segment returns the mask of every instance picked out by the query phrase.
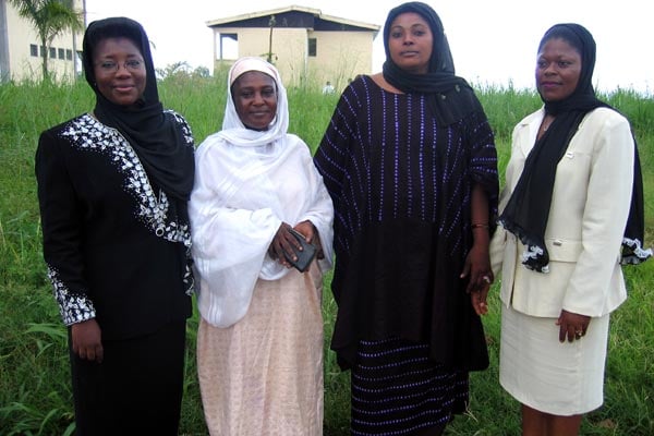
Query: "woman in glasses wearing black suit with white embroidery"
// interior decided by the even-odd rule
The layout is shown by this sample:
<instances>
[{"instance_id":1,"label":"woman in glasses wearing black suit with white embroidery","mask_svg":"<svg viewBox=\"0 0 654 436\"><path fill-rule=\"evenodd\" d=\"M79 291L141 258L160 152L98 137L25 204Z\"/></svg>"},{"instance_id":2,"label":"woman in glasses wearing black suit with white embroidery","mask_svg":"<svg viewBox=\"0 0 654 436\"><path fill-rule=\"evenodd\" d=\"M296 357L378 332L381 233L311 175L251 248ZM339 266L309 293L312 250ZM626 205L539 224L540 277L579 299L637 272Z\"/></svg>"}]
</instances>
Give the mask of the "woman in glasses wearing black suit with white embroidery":
<instances>
[{"instance_id":1,"label":"woman in glasses wearing black suit with white embroidery","mask_svg":"<svg viewBox=\"0 0 654 436\"><path fill-rule=\"evenodd\" d=\"M193 290L193 136L159 102L138 23L93 22L83 48L95 108L45 131L36 153L76 434L177 435Z\"/></svg>"}]
</instances>

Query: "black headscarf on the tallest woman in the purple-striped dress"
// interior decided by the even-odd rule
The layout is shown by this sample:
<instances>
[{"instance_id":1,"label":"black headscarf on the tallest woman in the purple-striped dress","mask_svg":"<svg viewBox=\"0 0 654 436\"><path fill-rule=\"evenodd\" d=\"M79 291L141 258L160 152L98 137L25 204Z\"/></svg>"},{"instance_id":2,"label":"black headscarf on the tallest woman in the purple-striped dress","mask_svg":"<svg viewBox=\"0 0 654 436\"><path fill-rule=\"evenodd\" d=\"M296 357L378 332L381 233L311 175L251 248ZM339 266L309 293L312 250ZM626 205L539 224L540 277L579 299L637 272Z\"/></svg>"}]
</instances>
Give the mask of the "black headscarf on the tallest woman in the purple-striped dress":
<instances>
[{"instance_id":1,"label":"black headscarf on the tallest woman in the purple-striped dress","mask_svg":"<svg viewBox=\"0 0 654 436\"><path fill-rule=\"evenodd\" d=\"M390 26L393 20L407 12L421 15L429 25L434 38L429 68L426 74L412 74L399 68L391 59L388 49ZM428 4L420 1L402 3L388 13L384 24L384 78L403 93L419 93L427 95L438 125L452 124L473 111L483 112L472 87L455 75L455 62L447 43L440 19Z\"/></svg>"}]
</instances>

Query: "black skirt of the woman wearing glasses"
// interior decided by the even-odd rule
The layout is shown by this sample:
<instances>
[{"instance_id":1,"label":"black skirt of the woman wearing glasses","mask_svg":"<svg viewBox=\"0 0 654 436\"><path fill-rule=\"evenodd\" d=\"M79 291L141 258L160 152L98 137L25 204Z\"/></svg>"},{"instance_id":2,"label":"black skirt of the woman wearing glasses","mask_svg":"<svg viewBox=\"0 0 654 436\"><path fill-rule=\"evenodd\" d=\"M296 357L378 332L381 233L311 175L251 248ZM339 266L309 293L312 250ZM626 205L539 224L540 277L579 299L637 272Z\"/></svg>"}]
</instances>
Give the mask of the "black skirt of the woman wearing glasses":
<instances>
[{"instance_id":1,"label":"black skirt of the woman wearing glasses","mask_svg":"<svg viewBox=\"0 0 654 436\"><path fill-rule=\"evenodd\" d=\"M100 364L81 360L70 347L75 434L177 436L185 334L182 320L152 335L104 340Z\"/></svg>"}]
</instances>

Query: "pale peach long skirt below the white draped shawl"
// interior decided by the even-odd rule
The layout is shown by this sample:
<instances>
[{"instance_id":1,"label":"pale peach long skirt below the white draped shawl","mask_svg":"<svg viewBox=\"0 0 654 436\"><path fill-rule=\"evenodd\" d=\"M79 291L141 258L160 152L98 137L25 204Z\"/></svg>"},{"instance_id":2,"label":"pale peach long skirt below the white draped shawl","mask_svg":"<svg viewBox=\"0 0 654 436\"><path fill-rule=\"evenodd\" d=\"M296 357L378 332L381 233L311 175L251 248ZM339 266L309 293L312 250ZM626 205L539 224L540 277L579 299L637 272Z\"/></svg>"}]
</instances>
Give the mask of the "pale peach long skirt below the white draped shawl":
<instances>
[{"instance_id":1,"label":"pale peach long skirt below the white draped shawl","mask_svg":"<svg viewBox=\"0 0 654 436\"><path fill-rule=\"evenodd\" d=\"M201 320L197 372L211 436L323 434L322 276L316 263L258 280L229 328Z\"/></svg>"}]
</instances>

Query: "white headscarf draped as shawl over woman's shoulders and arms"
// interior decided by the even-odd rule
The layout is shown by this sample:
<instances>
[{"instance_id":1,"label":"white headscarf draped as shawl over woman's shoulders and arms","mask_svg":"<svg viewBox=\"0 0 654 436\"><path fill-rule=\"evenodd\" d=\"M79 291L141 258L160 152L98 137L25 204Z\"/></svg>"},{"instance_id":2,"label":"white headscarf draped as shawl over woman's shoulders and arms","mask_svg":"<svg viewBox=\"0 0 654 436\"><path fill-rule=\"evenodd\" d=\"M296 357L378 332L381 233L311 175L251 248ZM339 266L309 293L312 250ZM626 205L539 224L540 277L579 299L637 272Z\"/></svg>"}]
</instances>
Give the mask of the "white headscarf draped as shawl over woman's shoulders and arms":
<instances>
[{"instance_id":1,"label":"white headscarf draped as shawl over woman's shoulders and arms","mask_svg":"<svg viewBox=\"0 0 654 436\"><path fill-rule=\"evenodd\" d=\"M247 129L229 89L243 73L259 71L277 85L277 113L269 129ZM259 58L230 69L223 130L195 153L191 195L193 257L199 276L198 308L210 324L228 327L247 312L258 279L277 280L289 269L268 256L281 222L311 220L331 267L334 207L306 144L287 133L286 89L275 66Z\"/></svg>"}]
</instances>

